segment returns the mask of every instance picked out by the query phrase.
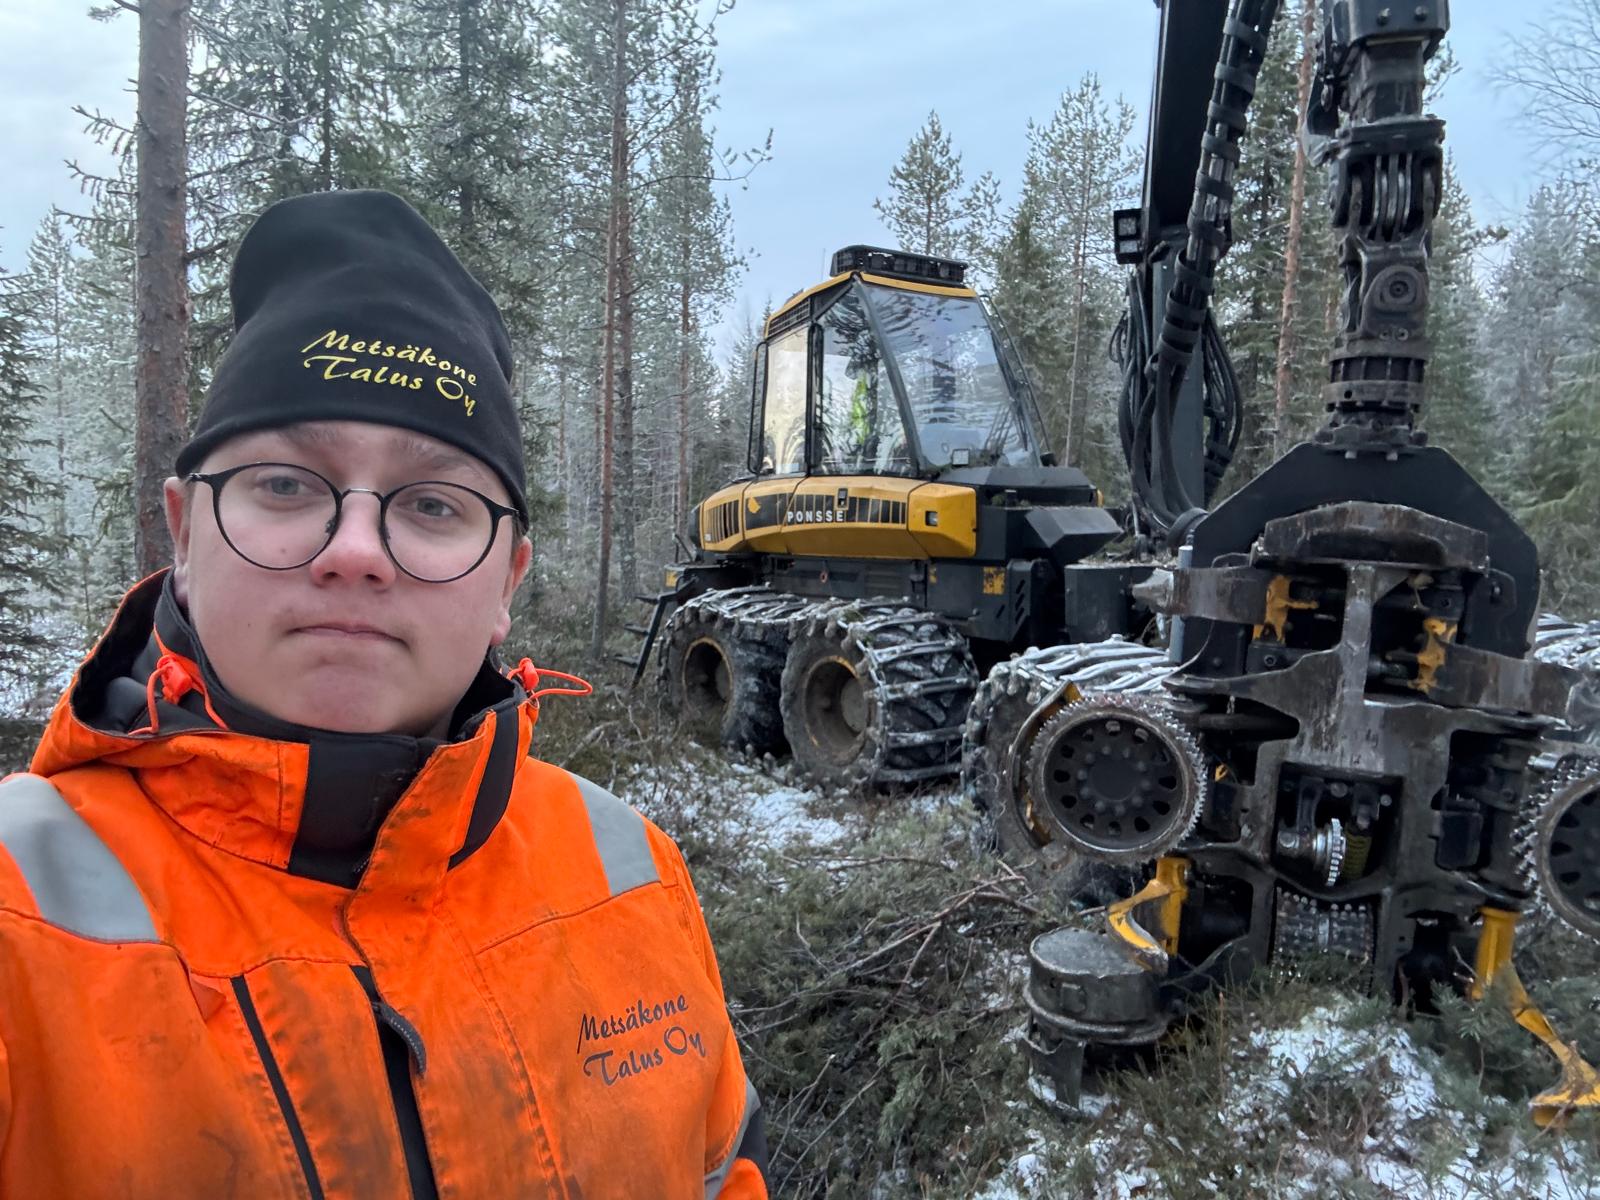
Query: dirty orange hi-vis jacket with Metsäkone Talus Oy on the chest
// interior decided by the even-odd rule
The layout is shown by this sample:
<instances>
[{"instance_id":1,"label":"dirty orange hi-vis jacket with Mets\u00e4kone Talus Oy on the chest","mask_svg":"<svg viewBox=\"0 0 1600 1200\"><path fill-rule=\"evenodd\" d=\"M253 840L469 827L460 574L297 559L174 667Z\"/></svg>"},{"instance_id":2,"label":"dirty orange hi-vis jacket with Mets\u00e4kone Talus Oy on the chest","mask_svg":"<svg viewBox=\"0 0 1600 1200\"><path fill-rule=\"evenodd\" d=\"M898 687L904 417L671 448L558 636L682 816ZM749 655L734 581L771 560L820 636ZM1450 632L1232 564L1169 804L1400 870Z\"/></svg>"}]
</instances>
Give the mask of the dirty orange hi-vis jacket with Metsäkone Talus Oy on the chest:
<instances>
[{"instance_id":1,"label":"dirty orange hi-vis jacket with Mets\u00e4kone Talus Oy on the chest","mask_svg":"<svg viewBox=\"0 0 1600 1200\"><path fill-rule=\"evenodd\" d=\"M152 576L0 784L0 1197L766 1195L683 859L522 686L438 742L227 702Z\"/></svg>"}]
</instances>

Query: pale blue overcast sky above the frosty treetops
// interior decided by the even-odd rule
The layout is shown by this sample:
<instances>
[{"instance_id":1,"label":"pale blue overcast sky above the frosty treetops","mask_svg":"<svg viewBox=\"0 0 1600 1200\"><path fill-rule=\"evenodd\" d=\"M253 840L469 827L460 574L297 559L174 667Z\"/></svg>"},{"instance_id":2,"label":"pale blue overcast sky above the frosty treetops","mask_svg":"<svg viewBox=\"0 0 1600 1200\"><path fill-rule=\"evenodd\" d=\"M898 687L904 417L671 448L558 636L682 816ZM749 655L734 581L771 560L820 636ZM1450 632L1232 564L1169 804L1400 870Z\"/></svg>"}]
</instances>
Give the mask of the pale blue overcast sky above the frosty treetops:
<instances>
[{"instance_id":1,"label":"pale blue overcast sky above the frosty treetops","mask_svg":"<svg viewBox=\"0 0 1600 1200\"><path fill-rule=\"evenodd\" d=\"M1290 0L1293 2L1293 0ZM1480 219L1510 222L1542 178L1494 88L1507 37L1528 34L1562 0L1454 0L1461 74L1440 115ZM136 24L88 18L83 0L0 0L0 266L22 266L51 205L82 210L64 160L104 165L74 106L130 120ZM907 139L936 109L966 176L1000 176L1014 198L1027 120L1048 120L1062 90L1098 72L1141 112L1155 58L1150 0L739 0L722 19L717 134L744 149L773 131L773 158L730 192L749 256L741 302L760 312L824 277L834 250L883 242L872 210Z\"/></svg>"}]
</instances>

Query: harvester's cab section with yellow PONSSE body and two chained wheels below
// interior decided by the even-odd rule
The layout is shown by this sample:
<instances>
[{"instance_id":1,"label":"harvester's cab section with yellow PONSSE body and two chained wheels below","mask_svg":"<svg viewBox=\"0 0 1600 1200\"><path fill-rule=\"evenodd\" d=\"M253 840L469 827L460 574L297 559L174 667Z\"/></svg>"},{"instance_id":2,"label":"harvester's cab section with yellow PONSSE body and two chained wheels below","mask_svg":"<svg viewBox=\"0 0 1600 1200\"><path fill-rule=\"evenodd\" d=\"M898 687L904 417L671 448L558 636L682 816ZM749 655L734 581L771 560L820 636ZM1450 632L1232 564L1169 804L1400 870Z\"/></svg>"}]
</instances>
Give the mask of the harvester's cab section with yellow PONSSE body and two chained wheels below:
<instances>
[{"instance_id":1,"label":"harvester's cab section with yellow PONSSE body and two chained wheels below","mask_svg":"<svg viewBox=\"0 0 1600 1200\"><path fill-rule=\"evenodd\" d=\"M824 784L949 776L981 669L1138 626L1149 568L1075 566L1122 525L965 264L848 246L754 366L749 474L693 510L635 664L659 635L693 726Z\"/></svg>"}]
</instances>

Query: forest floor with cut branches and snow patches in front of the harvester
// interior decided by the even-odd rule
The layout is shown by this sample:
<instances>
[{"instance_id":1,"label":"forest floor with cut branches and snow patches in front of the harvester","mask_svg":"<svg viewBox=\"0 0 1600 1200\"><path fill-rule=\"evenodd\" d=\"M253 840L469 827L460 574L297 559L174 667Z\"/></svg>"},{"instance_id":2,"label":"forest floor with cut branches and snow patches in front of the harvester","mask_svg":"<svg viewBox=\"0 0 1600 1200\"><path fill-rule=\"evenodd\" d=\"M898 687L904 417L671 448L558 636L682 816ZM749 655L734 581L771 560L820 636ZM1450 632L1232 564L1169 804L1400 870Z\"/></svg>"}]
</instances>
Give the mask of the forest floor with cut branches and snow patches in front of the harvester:
<instances>
[{"instance_id":1,"label":"forest floor with cut branches and snow patches in front of the harvester","mask_svg":"<svg viewBox=\"0 0 1600 1200\"><path fill-rule=\"evenodd\" d=\"M1000 862L954 786L822 795L688 741L651 694L550 702L534 754L683 846L774 1197L1600 1197L1600 1117L1530 1120L1557 1067L1502 1003L1405 1019L1336 968L1208 997L1157 1053L1091 1077L1091 1118L1061 1120L1029 1094L1026 950L1093 917ZM1600 949L1534 926L1518 968L1600 1059Z\"/></svg>"}]
</instances>

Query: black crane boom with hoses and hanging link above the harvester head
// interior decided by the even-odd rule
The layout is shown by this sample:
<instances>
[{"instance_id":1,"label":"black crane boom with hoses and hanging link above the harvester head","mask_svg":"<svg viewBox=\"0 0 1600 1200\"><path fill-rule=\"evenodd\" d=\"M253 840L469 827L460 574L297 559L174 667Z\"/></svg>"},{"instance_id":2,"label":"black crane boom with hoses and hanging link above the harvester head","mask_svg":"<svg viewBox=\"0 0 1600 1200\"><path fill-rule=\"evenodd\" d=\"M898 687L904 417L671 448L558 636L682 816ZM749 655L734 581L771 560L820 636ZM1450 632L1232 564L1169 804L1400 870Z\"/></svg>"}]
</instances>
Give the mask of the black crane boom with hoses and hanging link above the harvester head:
<instances>
[{"instance_id":1,"label":"black crane boom with hoses and hanging link above the harvester head","mask_svg":"<svg viewBox=\"0 0 1600 1200\"><path fill-rule=\"evenodd\" d=\"M1157 3L1162 38L1142 206L1117 214L1118 258L1138 270L1115 350L1134 509L1144 531L1179 546L1205 515L1240 432L1238 386L1211 294L1232 237L1238 142L1278 3ZM1378 450L1422 442L1414 427L1429 354L1427 238L1438 211L1443 123L1421 106L1424 69L1448 24L1446 0L1322 0L1307 138L1330 171L1344 270L1323 443ZM1216 67L1205 78L1195 64L1213 61L1211 46ZM1200 371L1190 370L1197 350Z\"/></svg>"}]
</instances>

